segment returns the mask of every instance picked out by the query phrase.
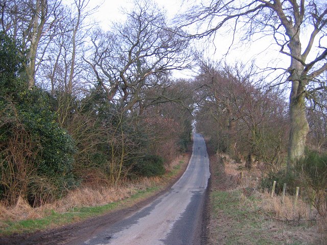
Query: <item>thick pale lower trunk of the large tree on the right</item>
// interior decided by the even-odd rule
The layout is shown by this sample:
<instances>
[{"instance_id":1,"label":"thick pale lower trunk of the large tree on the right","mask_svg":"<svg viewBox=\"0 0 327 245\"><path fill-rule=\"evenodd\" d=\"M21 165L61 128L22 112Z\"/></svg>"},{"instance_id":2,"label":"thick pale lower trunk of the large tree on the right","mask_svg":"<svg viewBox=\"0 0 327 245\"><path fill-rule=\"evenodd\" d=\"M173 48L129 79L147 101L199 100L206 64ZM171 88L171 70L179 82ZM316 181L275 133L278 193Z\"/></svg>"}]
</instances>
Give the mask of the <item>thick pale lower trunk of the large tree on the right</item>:
<instances>
[{"instance_id":1,"label":"thick pale lower trunk of the large tree on the right","mask_svg":"<svg viewBox=\"0 0 327 245\"><path fill-rule=\"evenodd\" d=\"M292 81L289 115L291 128L288 146L288 171L294 161L303 156L309 132L309 124L306 117L305 87L299 81Z\"/></svg>"}]
</instances>

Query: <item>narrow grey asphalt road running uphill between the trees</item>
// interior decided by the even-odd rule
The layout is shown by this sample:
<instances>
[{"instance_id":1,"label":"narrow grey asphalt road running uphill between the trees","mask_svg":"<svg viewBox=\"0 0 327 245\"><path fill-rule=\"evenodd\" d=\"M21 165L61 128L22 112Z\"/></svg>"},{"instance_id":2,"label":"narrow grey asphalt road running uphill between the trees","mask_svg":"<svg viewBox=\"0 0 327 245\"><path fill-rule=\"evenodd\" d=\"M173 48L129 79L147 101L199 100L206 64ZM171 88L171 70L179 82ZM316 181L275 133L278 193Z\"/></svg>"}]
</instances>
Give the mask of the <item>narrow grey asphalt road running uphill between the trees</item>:
<instances>
[{"instance_id":1,"label":"narrow grey asphalt road running uphill between the trees","mask_svg":"<svg viewBox=\"0 0 327 245\"><path fill-rule=\"evenodd\" d=\"M172 188L148 206L86 240L90 245L191 245L201 243L201 223L209 173L204 139L194 134L188 168Z\"/></svg>"}]
</instances>

